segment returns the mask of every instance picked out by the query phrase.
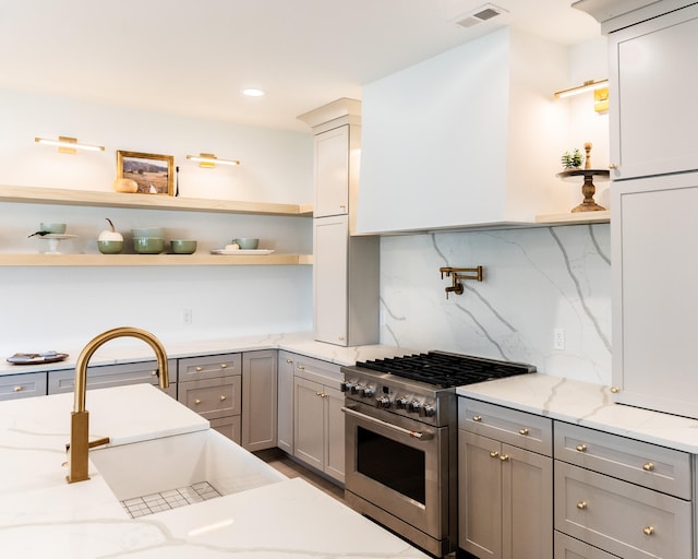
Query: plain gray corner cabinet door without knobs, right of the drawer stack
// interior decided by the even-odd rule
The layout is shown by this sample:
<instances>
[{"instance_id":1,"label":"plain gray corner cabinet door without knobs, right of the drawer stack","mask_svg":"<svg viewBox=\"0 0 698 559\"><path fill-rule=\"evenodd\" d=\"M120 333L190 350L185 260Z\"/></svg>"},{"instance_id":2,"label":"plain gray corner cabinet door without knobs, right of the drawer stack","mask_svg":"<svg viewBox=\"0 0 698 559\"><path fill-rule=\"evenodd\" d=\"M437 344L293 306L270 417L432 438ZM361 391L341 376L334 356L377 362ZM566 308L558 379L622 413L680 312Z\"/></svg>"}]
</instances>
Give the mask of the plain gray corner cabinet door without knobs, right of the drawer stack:
<instances>
[{"instance_id":1,"label":"plain gray corner cabinet door without knobs, right of the drawer stack","mask_svg":"<svg viewBox=\"0 0 698 559\"><path fill-rule=\"evenodd\" d=\"M242 354L242 447L249 451L276 447L277 352Z\"/></svg>"}]
</instances>

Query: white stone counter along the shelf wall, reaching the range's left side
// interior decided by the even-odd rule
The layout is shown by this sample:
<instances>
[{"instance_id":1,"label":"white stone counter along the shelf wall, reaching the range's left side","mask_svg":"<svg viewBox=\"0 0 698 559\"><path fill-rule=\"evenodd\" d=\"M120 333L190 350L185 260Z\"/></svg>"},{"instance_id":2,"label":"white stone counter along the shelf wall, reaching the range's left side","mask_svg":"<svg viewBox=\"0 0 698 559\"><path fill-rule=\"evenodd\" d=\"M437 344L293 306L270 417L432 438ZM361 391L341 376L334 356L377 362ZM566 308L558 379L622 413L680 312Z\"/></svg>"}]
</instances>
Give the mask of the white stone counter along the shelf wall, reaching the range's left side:
<instances>
[{"instance_id":1,"label":"white stone counter along the shelf wall, reaching the range's left side","mask_svg":"<svg viewBox=\"0 0 698 559\"><path fill-rule=\"evenodd\" d=\"M97 334L98 332L95 333L95 335ZM313 340L312 333L309 332L228 337L219 340L197 340L191 342L168 341L165 338L160 341L163 342L167 350L167 356L170 359L227 353L254 352L257 349L285 349L337 365L353 365L357 361L363 361L366 359L381 359L384 357L416 353L414 350L381 344L342 347L324 342L316 342ZM86 340L85 344L87 342L89 341ZM7 355L0 361L0 377L23 372L74 369L82 347L60 347L51 349L55 349L58 353L68 354L69 357L63 361L52 364L12 365L7 362L5 359L10 357L10 355ZM47 348L22 348L21 350L26 353L38 353L45 352ZM134 338L123 337L112 340L99 347L89 360L89 365L118 365L153 359L155 359L155 355L147 344Z\"/></svg>"}]
</instances>

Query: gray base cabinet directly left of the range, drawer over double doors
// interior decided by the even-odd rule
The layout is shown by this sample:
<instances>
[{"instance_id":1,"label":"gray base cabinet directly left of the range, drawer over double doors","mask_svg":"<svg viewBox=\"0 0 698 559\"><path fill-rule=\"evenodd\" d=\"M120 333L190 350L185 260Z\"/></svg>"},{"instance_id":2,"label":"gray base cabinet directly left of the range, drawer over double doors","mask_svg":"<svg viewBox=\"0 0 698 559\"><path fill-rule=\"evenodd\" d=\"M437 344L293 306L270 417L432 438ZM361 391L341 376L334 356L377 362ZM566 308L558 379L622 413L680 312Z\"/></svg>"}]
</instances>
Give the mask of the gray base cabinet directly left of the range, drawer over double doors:
<instances>
[{"instance_id":1,"label":"gray base cabinet directly left of the range, drawer over double doors","mask_svg":"<svg viewBox=\"0 0 698 559\"><path fill-rule=\"evenodd\" d=\"M293 455L345 481L345 397L339 366L297 357L293 379Z\"/></svg>"}]
</instances>

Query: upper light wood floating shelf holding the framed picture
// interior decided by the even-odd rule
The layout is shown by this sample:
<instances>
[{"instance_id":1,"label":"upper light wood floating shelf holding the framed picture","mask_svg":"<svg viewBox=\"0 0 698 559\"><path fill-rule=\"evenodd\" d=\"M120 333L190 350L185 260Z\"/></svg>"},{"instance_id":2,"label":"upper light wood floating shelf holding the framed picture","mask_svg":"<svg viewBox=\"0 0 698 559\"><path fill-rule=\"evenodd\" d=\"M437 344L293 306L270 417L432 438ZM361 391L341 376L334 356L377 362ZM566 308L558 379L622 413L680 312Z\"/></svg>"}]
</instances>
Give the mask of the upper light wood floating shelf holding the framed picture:
<instances>
[{"instance_id":1,"label":"upper light wood floating shelf holding the framed picture","mask_svg":"<svg viewBox=\"0 0 698 559\"><path fill-rule=\"evenodd\" d=\"M240 202L203 198L168 197L163 194L128 194L62 188L0 186L0 202L21 202L58 205L89 205L134 207L142 210L174 210L181 212L215 212L256 215L312 217L312 204L276 204ZM239 257L236 257L239 258Z\"/></svg>"}]
</instances>

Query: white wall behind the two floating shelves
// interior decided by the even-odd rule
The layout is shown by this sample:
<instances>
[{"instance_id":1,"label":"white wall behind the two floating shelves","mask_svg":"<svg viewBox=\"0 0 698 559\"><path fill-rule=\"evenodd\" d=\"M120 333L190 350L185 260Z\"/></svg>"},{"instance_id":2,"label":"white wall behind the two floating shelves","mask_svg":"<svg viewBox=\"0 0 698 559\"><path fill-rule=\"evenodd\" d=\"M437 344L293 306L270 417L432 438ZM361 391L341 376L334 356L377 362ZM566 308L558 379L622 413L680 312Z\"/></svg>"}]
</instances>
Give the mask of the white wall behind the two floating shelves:
<instances>
[{"instance_id":1,"label":"white wall behind the two floating shelves","mask_svg":"<svg viewBox=\"0 0 698 559\"><path fill-rule=\"evenodd\" d=\"M116 151L173 155L180 193L257 202L312 200L312 134L144 112L59 97L0 91L0 185L111 191ZM58 154L35 136L76 136L104 153ZM240 167L201 169L185 155L236 158ZM43 221L69 224L65 252L97 252L110 217L132 227L164 226L168 238L195 238L200 249L238 236L261 247L310 253L310 218L159 212L0 203L1 252L38 252L27 235ZM105 257L108 258L108 257ZM186 257L182 257L186 258ZM311 266L116 266L0 269L0 355L84 344L118 325L151 330L163 340L225 337L312 329ZM183 324L191 309L192 324Z\"/></svg>"}]
</instances>

